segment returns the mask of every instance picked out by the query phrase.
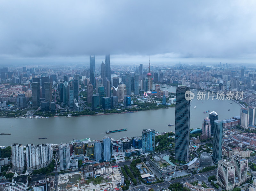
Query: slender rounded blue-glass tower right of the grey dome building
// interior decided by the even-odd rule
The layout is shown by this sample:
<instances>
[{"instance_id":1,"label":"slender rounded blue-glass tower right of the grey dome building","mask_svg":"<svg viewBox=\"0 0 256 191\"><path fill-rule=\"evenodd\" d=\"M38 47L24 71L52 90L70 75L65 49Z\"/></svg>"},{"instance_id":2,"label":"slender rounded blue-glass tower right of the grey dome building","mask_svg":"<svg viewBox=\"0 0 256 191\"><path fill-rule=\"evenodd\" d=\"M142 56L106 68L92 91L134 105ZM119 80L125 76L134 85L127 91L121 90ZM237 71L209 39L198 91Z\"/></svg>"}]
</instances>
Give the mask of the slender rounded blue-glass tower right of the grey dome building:
<instances>
[{"instance_id":1,"label":"slender rounded blue-glass tower right of the grey dome building","mask_svg":"<svg viewBox=\"0 0 256 191\"><path fill-rule=\"evenodd\" d=\"M177 103L177 99L176 99ZM213 131L213 148L212 148L212 161L217 164L222 159L222 146L223 146L223 121L214 121Z\"/></svg>"}]
</instances>

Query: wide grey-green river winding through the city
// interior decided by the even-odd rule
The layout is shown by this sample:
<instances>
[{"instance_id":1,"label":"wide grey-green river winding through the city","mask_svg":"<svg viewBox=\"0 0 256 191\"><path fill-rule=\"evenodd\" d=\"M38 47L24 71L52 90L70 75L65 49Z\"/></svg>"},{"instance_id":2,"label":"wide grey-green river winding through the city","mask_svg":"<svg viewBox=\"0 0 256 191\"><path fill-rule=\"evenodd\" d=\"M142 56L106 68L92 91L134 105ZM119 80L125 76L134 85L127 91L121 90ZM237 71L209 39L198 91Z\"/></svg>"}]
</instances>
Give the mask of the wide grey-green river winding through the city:
<instances>
[{"instance_id":1,"label":"wide grey-green river winding through the city","mask_svg":"<svg viewBox=\"0 0 256 191\"><path fill-rule=\"evenodd\" d=\"M161 85L162 86L162 85ZM155 84L153 85L153 88ZM176 92L176 87L161 88L161 90ZM195 94L197 91L193 91ZM231 104L230 104L230 103ZM196 106L196 109L194 109ZM228 111L230 109L230 111ZM196 96L190 103L190 129L202 127L202 122L209 113L215 111L219 119L228 119L240 115L240 106L231 100L197 100ZM175 108L139 111L128 114L111 114L81 117L52 117L41 119L0 118L0 145L9 146L12 143L54 143L72 141L73 138L91 140L102 139L110 135L114 139L125 136L141 136L142 129L155 129L158 132L174 131L168 124L175 123ZM106 134L106 130L127 128L127 131ZM48 137L41 139L39 137Z\"/></svg>"}]
</instances>

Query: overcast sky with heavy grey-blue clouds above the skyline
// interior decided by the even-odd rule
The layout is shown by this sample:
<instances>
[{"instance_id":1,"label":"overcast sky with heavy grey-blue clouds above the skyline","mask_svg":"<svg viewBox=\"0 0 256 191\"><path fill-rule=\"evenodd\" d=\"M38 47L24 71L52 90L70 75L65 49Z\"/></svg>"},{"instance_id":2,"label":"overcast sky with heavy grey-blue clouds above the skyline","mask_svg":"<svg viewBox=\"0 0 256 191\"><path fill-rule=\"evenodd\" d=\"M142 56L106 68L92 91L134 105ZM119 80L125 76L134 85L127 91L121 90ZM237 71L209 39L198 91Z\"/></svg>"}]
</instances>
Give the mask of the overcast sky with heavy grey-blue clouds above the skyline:
<instances>
[{"instance_id":1,"label":"overcast sky with heavy grey-blue clouds above the skyline","mask_svg":"<svg viewBox=\"0 0 256 191\"><path fill-rule=\"evenodd\" d=\"M252 62L255 10L254 0L1 0L0 64L89 62L106 53L119 62Z\"/></svg>"}]
</instances>

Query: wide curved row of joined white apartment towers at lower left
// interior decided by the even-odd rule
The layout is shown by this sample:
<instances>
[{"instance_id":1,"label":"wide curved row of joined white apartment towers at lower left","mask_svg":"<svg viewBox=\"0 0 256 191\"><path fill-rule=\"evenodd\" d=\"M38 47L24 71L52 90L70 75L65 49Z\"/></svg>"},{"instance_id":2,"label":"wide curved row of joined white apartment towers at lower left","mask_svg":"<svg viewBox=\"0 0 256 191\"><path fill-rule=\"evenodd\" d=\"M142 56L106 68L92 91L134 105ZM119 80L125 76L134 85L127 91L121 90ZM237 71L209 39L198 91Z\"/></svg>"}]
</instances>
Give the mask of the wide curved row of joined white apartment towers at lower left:
<instances>
[{"instance_id":1,"label":"wide curved row of joined white apartment towers at lower left","mask_svg":"<svg viewBox=\"0 0 256 191\"><path fill-rule=\"evenodd\" d=\"M26 161L28 172L46 167L52 162L52 157L52 144L27 144Z\"/></svg>"}]
</instances>

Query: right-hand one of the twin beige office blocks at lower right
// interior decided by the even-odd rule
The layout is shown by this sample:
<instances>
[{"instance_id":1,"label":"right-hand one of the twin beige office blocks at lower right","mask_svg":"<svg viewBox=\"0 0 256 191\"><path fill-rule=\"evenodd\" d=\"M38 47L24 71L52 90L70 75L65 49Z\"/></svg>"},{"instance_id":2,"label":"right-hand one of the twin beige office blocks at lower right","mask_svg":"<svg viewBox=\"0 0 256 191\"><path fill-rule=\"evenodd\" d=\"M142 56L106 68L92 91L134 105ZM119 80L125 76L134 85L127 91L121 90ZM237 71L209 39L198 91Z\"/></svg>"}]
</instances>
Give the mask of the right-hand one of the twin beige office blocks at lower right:
<instances>
[{"instance_id":1,"label":"right-hand one of the twin beige office blocks at lower right","mask_svg":"<svg viewBox=\"0 0 256 191\"><path fill-rule=\"evenodd\" d=\"M232 155L231 163L236 166L235 177L238 178L239 182L244 183L247 179L248 160L240 155Z\"/></svg>"}]
</instances>

